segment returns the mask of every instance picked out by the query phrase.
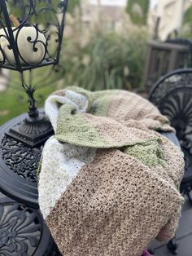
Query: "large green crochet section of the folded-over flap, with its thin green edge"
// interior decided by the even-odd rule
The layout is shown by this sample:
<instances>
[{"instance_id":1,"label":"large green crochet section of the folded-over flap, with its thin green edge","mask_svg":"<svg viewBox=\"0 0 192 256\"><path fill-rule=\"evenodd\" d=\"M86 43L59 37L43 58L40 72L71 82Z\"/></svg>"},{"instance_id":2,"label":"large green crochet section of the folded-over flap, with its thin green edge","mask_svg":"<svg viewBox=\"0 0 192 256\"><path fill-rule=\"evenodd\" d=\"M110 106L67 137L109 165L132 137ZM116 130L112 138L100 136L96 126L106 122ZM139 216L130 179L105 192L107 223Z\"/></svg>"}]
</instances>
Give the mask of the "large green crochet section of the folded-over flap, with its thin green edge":
<instances>
[{"instance_id":1,"label":"large green crochet section of the folded-over flap, with its thin green edge","mask_svg":"<svg viewBox=\"0 0 192 256\"><path fill-rule=\"evenodd\" d=\"M116 141L105 139L97 127L85 117L84 113L76 113L76 108L71 104L64 104L59 109L55 137L62 142L90 148L122 148L146 142L146 139L136 139L132 143L129 142L129 139L120 142L118 135ZM151 140L157 141L159 139L153 137Z\"/></svg>"}]
</instances>

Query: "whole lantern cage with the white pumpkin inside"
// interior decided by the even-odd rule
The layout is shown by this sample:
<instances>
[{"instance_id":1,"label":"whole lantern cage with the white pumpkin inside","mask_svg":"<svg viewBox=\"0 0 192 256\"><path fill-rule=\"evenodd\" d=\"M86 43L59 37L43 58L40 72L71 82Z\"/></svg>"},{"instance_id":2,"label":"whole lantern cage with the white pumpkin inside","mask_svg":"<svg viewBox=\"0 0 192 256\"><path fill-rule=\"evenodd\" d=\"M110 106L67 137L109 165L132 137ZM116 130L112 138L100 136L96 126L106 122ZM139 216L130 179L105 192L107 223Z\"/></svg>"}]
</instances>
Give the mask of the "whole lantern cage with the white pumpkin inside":
<instances>
[{"instance_id":1,"label":"whole lantern cage with the white pumpkin inside","mask_svg":"<svg viewBox=\"0 0 192 256\"><path fill-rule=\"evenodd\" d=\"M68 0L1 1L0 66L22 72L58 64L67 6ZM11 11L20 18L17 25Z\"/></svg>"}]
</instances>

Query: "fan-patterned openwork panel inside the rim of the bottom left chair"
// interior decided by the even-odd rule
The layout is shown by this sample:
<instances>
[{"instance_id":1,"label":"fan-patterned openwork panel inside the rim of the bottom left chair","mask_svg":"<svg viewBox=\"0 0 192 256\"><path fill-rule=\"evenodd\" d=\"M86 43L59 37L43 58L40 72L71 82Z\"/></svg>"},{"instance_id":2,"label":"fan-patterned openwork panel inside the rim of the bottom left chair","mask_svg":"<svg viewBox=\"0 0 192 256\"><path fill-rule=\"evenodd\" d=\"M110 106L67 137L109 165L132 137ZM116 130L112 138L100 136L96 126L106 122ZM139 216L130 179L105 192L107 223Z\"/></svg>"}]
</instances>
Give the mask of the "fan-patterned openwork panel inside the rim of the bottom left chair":
<instances>
[{"instance_id":1,"label":"fan-patterned openwork panel inside the rim of the bottom left chair","mask_svg":"<svg viewBox=\"0 0 192 256\"><path fill-rule=\"evenodd\" d=\"M40 216L17 202L0 204L0 255L33 255L41 240Z\"/></svg>"}]
</instances>

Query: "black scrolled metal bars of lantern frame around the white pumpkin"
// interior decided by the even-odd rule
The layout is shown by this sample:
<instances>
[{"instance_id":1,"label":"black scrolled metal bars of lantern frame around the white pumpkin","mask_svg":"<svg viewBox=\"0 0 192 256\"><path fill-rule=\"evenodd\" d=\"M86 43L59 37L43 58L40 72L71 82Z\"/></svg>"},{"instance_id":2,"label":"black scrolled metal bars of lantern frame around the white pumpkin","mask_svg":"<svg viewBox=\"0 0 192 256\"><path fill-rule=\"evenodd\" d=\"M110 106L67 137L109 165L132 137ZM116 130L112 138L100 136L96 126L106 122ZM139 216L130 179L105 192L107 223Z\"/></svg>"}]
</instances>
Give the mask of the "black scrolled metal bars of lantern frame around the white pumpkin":
<instances>
[{"instance_id":1,"label":"black scrolled metal bars of lantern frame around the white pumpkin","mask_svg":"<svg viewBox=\"0 0 192 256\"><path fill-rule=\"evenodd\" d=\"M20 21L20 25L18 27L13 28L11 25L10 15L7 11L7 4L11 2L11 0L1 0L0 1L0 27L3 29L3 32L5 34L0 33L0 52L2 54L2 60L0 60L0 68L7 68L11 70L16 70L21 72L24 72L26 70L31 70L33 68L40 68L47 65L57 65L59 64L59 54L61 51L61 45L63 41L63 30L64 30L64 21L65 21L65 14L68 8L68 0L61 0L59 2L59 5L57 6L57 10L52 6L51 2L53 0L12 0L13 5L15 2L16 4L21 3L21 8L24 9L23 17L19 17L18 20ZM24 5L24 2L25 5ZM37 7L38 3L45 2L45 7ZM27 7L28 8L27 8ZM49 15L46 15L46 12L49 13ZM31 20L34 20L35 18L39 19L39 15L45 14L46 15L46 28L41 28L40 20L37 23L32 23ZM51 15L53 17L53 22L51 23L51 20L48 20L48 17ZM51 18L50 17L50 18ZM4 20L4 24L2 22ZM49 30L52 27L51 30ZM37 51L40 51L37 47L41 46L41 51L43 50L43 55L41 56L41 60L30 63L28 60L24 59L24 55L20 52L20 33L22 33L22 30L24 28L31 28L33 31L36 32L36 36L34 39L30 37L30 33L28 34L28 37L26 38L26 42L28 44L31 44L32 49L34 51L34 54ZM1 30L2 30L1 29ZM49 41L51 38L51 33L57 34L57 38L55 39L55 43L58 45L57 49L55 50L55 55L50 56L49 55ZM39 38L39 35L45 36L45 41L42 41ZM2 48L1 41L2 39L4 41L7 41L7 44L4 48ZM25 38L24 38L25 39ZM6 49L8 48L8 49ZM40 48L40 47L39 47ZM7 57L7 53L11 51L14 55L14 62L9 60L9 57ZM10 53L9 53L10 54Z\"/></svg>"}]
</instances>

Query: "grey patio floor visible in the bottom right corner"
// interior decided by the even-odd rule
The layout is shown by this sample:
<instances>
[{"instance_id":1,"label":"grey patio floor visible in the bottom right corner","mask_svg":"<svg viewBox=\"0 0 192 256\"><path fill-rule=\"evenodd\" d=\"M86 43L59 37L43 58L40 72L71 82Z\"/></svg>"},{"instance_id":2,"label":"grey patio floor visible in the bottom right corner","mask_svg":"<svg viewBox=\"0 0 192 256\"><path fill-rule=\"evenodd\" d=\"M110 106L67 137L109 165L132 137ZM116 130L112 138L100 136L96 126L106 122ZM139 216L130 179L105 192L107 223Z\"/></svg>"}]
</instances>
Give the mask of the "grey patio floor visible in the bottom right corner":
<instances>
[{"instance_id":1,"label":"grey patio floor visible in the bottom right corner","mask_svg":"<svg viewBox=\"0 0 192 256\"><path fill-rule=\"evenodd\" d=\"M192 205L187 200L183 205L176 238L179 245L177 256L192 256ZM151 249L155 256L172 256L164 243L153 241Z\"/></svg>"}]
</instances>

